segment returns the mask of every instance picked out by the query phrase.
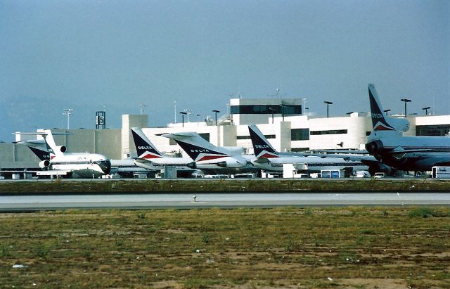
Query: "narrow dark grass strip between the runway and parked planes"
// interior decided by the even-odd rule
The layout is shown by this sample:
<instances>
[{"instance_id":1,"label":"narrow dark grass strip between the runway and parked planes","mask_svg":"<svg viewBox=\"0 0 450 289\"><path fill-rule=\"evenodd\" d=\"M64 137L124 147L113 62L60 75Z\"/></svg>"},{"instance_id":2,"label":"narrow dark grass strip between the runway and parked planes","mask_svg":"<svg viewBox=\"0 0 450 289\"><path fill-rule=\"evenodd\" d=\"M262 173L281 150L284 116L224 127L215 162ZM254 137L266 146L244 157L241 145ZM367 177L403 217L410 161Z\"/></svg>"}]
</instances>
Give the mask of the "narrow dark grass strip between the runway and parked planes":
<instances>
[{"instance_id":1,"label":"narrow dark grass strip between the runway and parked planes","mask_svg":"<svg viewBox=\"0 0 450 289\"><path fill-rule=\"evenodd\" d=\"M449 192L449 179L141 179L0 181L0 195L161 192Z\"/></svg>"}]
</instances>

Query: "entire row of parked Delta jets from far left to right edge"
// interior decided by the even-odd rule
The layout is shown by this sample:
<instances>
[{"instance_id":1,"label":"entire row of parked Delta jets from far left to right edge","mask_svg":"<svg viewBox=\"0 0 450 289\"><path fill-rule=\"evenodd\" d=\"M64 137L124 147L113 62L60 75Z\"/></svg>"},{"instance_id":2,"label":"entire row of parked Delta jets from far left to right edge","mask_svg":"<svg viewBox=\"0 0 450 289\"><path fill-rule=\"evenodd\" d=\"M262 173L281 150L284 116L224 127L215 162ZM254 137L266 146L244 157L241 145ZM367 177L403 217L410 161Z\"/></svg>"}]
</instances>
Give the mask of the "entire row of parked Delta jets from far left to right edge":
<instances>
[{"instance_id":1,"label":"entire row of parked Delta jets from far left to right edge","mask_svg":"<svg viewBox=\"0 0 450 289\"><path fill-rule=\"evenodd\" d=\"M169 158L150 142L138 127L131 128L137 158L117 161L116 172L122 167L160 171L165 166L176 166L179 175L190 176L199 169L205 174L236 174L259 172L283 173L284 164L292 164L297 170L320 172L323 169L347 169L352 172L369 170L391 172L430 171L434 166L450 166L450 138L432 136L404 136L409 129L406 119L383 114L378 94L373 84L368 84L373 131L368 136L366 150L372 156L360 155L316 155L302 153L280 153L267 141L255 124L248 129L254 155L243 155L241 147L219 147L206 141L196 132L162 134L173 139L189 158ZM20 142L29 146L40 159L41 171L37 175L69 175L91 178L111 172L111 160L98 153L66 153L65 146L57 146L49 129L37 133L43 141ZM37 148L41 146L41 148ZM133 167L133 164L139 168ZM33 172L33 171L29 171Z\"/></svg>"}]
</instances>

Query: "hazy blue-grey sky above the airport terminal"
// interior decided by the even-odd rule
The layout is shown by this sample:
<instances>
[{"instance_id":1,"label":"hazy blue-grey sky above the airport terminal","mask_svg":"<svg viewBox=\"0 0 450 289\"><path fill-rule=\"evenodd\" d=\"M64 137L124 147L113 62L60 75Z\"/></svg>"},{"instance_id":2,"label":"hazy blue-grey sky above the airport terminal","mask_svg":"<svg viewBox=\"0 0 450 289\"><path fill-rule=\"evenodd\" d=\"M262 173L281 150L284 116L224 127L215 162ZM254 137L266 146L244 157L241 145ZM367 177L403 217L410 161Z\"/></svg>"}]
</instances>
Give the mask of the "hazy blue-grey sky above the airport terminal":
<instances>
[{"instance_id":1,"label":"hazy blue-grey sky above the airport terminal","mask_svg":"<svg viewBox=\"0 0 450 289\"><path fill-rule=\"evenodd\" d=\"M384 108L450 114L450 1L0 0L0 140L13 131L150 126L232 94L307 98L311 113ZM178 116L180 119L180 117ZM198 120L198 117L192 117Z\"/></svg>"}]
</instances>

